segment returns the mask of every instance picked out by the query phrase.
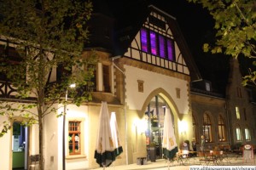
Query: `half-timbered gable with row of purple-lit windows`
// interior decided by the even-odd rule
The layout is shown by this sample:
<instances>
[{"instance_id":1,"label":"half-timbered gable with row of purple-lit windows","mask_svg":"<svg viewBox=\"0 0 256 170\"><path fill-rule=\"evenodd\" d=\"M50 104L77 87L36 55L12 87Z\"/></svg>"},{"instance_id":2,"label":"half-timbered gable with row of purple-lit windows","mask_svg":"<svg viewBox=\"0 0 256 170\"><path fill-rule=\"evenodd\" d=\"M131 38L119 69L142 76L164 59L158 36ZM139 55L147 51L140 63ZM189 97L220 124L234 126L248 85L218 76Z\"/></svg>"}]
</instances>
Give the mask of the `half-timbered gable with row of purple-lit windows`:
<instances>
[{"instance_id":1,"label":"half-timbered gable with row of purple-lit windows","mask_svg":"<svg viewBox=\"0 0 256 170\"><path fill-rule=\"evenodd\" d=\"M125 56L189 75L189 68L177 46L166 17L174 20L168 14L152 11L137 32Z\"/></svg>"}]
</instances>

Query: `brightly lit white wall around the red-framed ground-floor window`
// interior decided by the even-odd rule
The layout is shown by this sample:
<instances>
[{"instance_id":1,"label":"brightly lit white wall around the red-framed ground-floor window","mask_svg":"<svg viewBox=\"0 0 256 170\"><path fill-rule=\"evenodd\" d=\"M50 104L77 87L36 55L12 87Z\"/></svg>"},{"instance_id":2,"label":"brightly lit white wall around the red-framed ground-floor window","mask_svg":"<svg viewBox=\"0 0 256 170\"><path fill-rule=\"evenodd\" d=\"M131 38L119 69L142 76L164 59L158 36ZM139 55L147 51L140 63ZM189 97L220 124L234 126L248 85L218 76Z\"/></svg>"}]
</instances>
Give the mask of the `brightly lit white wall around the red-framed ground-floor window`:
<instances>
[{"instance_id":1,"label":"brightly lit white wall around the red-framed ground-floor window","mask_svg":"<svg viewBox=\"0 0 256 170\"><path fill-rule=\"evenodd\" d=\"M59 106L58 113L61 114L63 111L63 107ZM63 117L56 118L54 114L51 116L50 126L47 131L47 164L45 169L62 169L62 129L63 129ZM89 156L89 138L87 138L87 134L89 131L88 128L88 107L85 105L76 106L76 105L67 105L67 116L66 116L66 139L68 139L68 121L69 120L78 120L82 121L81 124L81 132L83 133L81 142L82 144L82 153L84 156ZM53 144L52 146L49 145ZM55 156L54 162L50 161L50 156ZM68 156L68 141L66 140L66 168L73 169L74 165L76 168L86 168L89 167L89 162L87 158L75 158L72 160L68 160L72 156Z\"/></svg>"}]
</instances>

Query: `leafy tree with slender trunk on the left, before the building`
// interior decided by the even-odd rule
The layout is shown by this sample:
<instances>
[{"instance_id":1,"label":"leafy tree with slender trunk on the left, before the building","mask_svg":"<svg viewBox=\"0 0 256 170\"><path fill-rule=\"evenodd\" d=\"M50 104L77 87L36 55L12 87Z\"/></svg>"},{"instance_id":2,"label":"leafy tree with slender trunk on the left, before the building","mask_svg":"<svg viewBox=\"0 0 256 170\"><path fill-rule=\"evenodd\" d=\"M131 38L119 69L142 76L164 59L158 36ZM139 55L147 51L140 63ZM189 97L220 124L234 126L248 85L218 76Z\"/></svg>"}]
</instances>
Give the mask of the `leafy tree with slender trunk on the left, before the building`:
<instances>
[{"instance_id":1,"label":"leafy tree with slender trunk on the left, before the building","mask_svg":"<svg viewBox=\"0 0 256 170\"><path fill-rule=\"evenodd\" d=\"M18 51L17 58L5 55L9 48L3 47L0 72L12 83L18 92L15 99L21 103L12 103L4 99L0 102L0 115L7 116L3 122L0 137L11 128L15 115L23 117L25 126L38 123L39 127L39 169L44 170L44 116L56 113L55 104L67 105L64 98L67 87L71 102L80 105L91 99L90 78L96 64L96 56L82 55L84 42L88 41L86 23L90 20L92 3L76 0L1 0L0 36L12 43ZM1 52L1 51L0 51ZM61 77L49 80L49 75L61 68ZM22 99L32 99L29 103ZM36 108L37 113L31 109ZM63 116L61 113L57 116Z\"/></svg>"}]
</instances>

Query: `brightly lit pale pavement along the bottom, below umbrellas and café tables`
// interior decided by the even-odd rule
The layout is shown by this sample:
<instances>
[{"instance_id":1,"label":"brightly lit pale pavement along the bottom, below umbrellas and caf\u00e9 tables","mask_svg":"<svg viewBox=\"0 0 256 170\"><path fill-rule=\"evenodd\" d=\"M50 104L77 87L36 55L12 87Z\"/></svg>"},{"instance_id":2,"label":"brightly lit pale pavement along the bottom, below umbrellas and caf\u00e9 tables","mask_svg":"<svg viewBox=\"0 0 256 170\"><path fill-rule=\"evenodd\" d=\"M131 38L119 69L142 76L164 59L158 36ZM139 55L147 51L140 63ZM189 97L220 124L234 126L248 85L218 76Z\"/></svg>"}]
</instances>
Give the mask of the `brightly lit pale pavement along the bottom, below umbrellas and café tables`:
<instances>
[{"instance_id":1,"label":"brightly lit pale pavement along the bottom, below umbrellas and caf\u00e9 tables","mask_svg":"<svg viewBox=\"0 0 256 170\"><path fill-rule=\"evenodd\" d=\"M249 161L244 161L242 157L230 157L228 160L223 160L221 164L218 165L218 167L240 167L240 166L256 166L256 159ZM165 159L156 160L155 162L147 161L146 165L137 165L129 164L129 165L120 165L115 166L114 163L111 165L111 167L106 167L105 170L190 170L189 167L191 166L197 166L197 167L206 167L200 164L199 159L196 158L190 158L189 162L186 162L185 164L181 164L180 161L173 161L168 162ZM214 166L214 165L209 165ZM214 166L215 167L215 166ZM95 168L95 170L102 170L103 167ZM255 168L256 169L256 168Z\"/></svg>"}]
</instances>

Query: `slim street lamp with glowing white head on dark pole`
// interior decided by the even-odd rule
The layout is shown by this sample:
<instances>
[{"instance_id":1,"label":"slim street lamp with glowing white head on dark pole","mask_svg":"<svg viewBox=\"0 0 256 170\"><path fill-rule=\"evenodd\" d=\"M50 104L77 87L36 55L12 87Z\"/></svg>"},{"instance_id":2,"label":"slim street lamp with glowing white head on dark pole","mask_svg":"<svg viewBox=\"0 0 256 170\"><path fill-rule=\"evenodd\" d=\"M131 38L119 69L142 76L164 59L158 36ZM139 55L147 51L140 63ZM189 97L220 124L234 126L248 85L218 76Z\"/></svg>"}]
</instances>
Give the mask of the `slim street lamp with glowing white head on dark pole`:
<instances>
[{"instance_id":1,"label":"slim street lamp with glowing white head on dark pole","mask_svg":"<svg viewBox=\"0 0 256 170\"><path fill-rule=\"evenodd\" d=\"M73 83L69 86L70 88L75 88L76 84ZM66 96L65 96L65 104L64 104L64 115L63 115L63 135L62 135L62 169L66 170L66 163L65 163L65 155L66 155L66 147L65 147L65 127L66 127L66 114L67 114L67 90L66 90Z\"/></svg>"}]
</instances>

